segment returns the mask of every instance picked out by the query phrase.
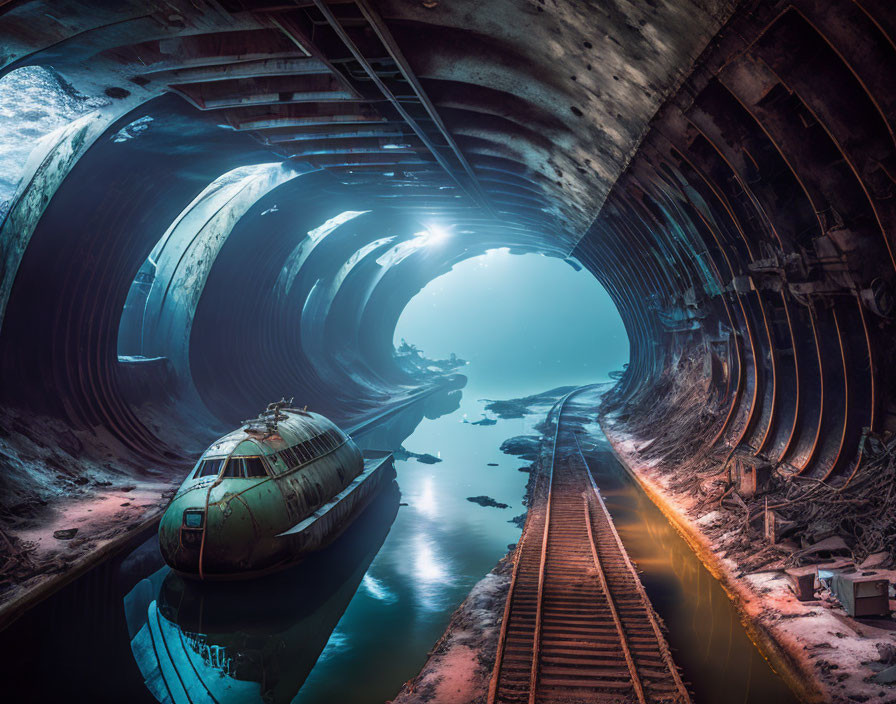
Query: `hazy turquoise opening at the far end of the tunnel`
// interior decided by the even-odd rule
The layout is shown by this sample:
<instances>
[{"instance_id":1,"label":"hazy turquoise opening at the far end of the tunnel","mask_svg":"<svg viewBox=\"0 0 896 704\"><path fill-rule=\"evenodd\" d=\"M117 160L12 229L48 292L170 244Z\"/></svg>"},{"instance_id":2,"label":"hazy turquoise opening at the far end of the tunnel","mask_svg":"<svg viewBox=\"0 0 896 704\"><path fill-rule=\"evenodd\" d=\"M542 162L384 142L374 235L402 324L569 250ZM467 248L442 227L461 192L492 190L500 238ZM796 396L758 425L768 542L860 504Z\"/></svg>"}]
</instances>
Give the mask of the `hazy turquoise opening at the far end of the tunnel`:
<instances>
[{"instance_id":1,"label":"hazy turquoise opening at the far end of the tunnel","mask_svg":"<svg viewBox=\"0 0 896 704\"><path fill-rule=\"evenodd\" d=\"M430 359L455 352L470 388L494 397L607 380L628 361L610 296L586 271L506 249L468 259L431 281L402 312L404 338Z\"/></svg>"}]
</instances>

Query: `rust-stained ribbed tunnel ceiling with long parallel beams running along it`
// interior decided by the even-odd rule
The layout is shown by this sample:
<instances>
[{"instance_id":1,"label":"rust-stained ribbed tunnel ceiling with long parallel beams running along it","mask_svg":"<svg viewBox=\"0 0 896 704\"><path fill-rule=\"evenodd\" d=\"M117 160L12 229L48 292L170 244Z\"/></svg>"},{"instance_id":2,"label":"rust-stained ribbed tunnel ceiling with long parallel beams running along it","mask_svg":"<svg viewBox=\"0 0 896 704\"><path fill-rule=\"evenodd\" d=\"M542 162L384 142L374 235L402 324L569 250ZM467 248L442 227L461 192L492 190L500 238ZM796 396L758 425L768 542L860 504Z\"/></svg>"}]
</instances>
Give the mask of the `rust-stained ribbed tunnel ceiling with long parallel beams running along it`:
<instances>
[{"instance_id":1,"label":"rust-stained ribbed tunnel ceiling with long parallel beams running along it","mask_svg":"<svg viewBox=\"0 0 896 704\"><path fill-rule=\"evenodd\" d=\"M406 211L571 249L732 4L14 1L0 65L175 92Z\"/></svg>"}]
</instances>

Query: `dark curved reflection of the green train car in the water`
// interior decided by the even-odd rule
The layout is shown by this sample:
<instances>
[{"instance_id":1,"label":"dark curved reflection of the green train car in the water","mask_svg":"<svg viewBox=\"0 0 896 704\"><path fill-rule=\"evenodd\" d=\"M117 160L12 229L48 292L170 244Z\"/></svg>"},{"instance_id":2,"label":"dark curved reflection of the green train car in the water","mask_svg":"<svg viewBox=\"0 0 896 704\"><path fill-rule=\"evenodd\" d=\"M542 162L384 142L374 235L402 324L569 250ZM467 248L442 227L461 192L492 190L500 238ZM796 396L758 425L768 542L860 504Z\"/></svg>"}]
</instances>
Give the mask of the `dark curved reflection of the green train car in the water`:
<instances>
[{"instance_id":1,"label":"dark curved reflection of the green train car in the water","mask_svg":"<svg viewBox=\"0 0 896 704\"><path fill-rule=\"evenodd\" d=\"M162 704L293 700L398 513L394 482L302 564L245 583L198 584L167 568L125 597L131 651Z\"/></svg>"}]
</instances>

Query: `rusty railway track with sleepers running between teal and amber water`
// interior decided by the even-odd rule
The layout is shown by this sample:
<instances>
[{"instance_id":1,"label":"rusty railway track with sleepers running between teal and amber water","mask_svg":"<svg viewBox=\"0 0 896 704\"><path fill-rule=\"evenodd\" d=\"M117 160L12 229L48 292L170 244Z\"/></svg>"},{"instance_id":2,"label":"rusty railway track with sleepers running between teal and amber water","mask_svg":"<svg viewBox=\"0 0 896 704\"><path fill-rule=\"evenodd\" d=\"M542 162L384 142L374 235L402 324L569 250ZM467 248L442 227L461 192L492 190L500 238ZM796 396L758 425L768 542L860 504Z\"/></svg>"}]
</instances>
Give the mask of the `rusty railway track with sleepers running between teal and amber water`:
<instances>
[{"instance_id":1,"label":"rusty railway track with sleepers running between teal and amber water","mask_svg":"<svg viewBox=\"0 0 896 704\"><path fill-rule=\"evenodd\" d=\"M690 703L659 620L582 455L572 399L517 546L489 704Z\"/></svg>"}]
</instances>

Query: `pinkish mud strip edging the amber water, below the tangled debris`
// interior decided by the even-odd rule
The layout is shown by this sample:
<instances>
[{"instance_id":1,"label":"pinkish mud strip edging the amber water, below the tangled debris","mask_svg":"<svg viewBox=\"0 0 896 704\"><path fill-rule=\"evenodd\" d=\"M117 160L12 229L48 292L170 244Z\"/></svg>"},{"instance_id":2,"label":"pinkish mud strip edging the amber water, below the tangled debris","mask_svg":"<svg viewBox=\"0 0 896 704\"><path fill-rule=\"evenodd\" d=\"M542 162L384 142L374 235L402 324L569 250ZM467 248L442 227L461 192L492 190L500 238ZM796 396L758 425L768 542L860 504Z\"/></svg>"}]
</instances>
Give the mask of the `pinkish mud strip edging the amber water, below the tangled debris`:
<instances>
[{"instance_id":1,"label":"pinkish mud strip edging the amber water, below the tangled debris","mask_svg":"<svg viewBox=\"0 0 896 704\"><path fill-rule=\"evenodd\" d=\"M671 464L644 458L651 438L615 426L612 415L602 419L620 462L722 583L750 638L802 700L896 702L896 686L872 679L896 659L896 622L851 619L825 590L816 601L798 601L780 561L760 560L756 567L762 546L745 541L724 513L676 486Z\"/></svg>"}]
</instances>

